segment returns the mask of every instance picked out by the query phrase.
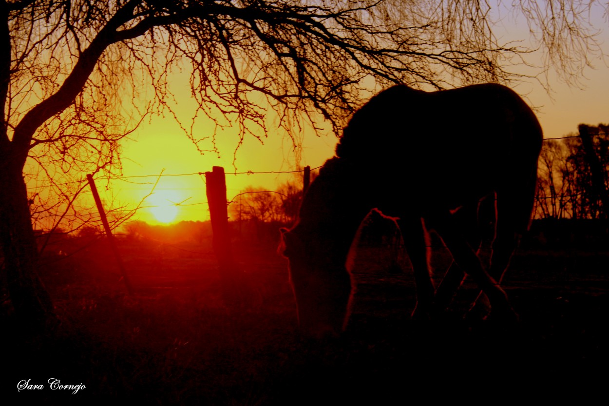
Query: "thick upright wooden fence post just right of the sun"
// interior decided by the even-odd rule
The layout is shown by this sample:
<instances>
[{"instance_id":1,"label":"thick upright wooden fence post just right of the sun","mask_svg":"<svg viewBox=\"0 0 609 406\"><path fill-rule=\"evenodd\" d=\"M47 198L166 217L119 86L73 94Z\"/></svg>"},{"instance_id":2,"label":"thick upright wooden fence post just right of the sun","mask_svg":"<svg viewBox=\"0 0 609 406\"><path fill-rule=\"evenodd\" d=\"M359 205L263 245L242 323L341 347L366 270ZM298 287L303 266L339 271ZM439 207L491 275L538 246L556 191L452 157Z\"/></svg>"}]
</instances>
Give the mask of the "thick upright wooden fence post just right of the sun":
<instances>
[{"instance_id":1,"label":"thick upright wooden fence post just right of the sun","mask_svg":"<svg viewBox=\"0 0 609 406\"><path fill-rule=\"evenodd\" d=\"M220 283L225 299L241 301L236 286L237 266L234 262L228 229L227 186L224 168L214 166L205 173L206 194L209 204L209 218L213 232L212 244L219 263Z\"/></svg>"}]
</instances>

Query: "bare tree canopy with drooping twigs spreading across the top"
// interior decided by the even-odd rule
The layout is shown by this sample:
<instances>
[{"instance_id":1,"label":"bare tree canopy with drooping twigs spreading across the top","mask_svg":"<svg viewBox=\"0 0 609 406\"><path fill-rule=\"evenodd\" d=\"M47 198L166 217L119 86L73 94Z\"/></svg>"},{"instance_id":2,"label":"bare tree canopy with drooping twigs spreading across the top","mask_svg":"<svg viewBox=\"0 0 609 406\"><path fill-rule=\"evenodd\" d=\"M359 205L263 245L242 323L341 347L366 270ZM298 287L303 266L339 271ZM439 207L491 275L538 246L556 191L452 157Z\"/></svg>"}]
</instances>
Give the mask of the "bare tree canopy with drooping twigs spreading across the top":
<instances>
[{"instance_id":1,"label":"bare tree canopy with drooping twigs spreading across the top","mask_svg":"<svg viewBox=\"0 0 609 406\"><path fill-rule=\"evenodd\" d=\"M3 3L4 141L21 158L41 144L64 156L85 134L111 144L125 124L166 107L172 69L191 72L201 112L260 137L267 105L256 94L289 131L303 113L339 125L361 104L365 79L437 88L515 79L510 66L537 46L547 66L574 74L596 46L587 2L516 4L537 40L530 47L502 43L501 3L479 1Z\"/></svg>"}]
</instances>

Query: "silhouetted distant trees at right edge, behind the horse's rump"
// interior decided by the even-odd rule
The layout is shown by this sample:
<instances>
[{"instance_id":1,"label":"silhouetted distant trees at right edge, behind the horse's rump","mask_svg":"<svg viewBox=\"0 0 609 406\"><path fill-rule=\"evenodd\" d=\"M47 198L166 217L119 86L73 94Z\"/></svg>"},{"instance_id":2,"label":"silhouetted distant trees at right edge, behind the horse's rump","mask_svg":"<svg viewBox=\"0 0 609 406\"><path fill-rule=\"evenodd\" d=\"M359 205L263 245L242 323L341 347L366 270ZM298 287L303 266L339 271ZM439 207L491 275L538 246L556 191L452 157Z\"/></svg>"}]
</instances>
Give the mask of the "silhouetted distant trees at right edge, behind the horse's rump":
<instances>
[{"instance_id":1,"label":"silhouetted distant trees at right edge, behind the horse's rump","mask_svg":"<svg viewBox=\"0 0 609 406\"><path fill-rule=\"evenodd\" d=\"M609 126L546 140L538 165L535 218L600 219L609 211Z\"/></svg>"}]
</instances>

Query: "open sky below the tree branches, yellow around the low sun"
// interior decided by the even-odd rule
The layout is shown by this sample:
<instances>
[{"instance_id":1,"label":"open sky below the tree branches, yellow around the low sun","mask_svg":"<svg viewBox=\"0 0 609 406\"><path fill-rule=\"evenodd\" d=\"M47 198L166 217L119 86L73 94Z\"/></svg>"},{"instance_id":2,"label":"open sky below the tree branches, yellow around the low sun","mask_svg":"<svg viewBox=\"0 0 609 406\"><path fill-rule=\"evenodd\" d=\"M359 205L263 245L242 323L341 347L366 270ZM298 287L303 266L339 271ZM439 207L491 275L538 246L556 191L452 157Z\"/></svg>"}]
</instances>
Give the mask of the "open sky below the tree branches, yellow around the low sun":
<instances>
[{"instance_id":1,"label":"open sky below the tree branches, yellow around the low sun","mask_svg":"<svg viewBox=\"0 0 609 406\"><path fill-rule=\"evenodd\" d=\"M599 17L600 18L600 17ZM600 21L600 20L599 20ZM607 21L604 22L607 26ZM609 33L602 32L603 47L609 54ZM609 123L609 60L593 59L596 69L587 69L585 77L580 78L583 88L551 80L552 93L529 80L514 84L512 88L521 94L536 110L544 130L544 137L556 138L577 131L577 125L586 123L596 125ZM172 85L177 93L189 94L186 82L177 77ZM180 112L185 113L185 123L192 116L192 102L188 96L180 99ZM190 112L190 113L188 113ZM202 127L201 134L211 132ZM280 183L294 179L290 174L262 172L292 171L295 159L289 140L280 134L270 134L264 144L253 138L245 140L236 154L233 166L233 152L238 138L230 132L217 134L220 157L213 152L199 154L194 144L186 137L173 118L155 117L144 123L122 143L124 176L146 176L160 174L192 174L190 176L163 176L160 178L155 194L147 199L146 205L174 205L183 202L177 211L175 221L208 219L208 206L205 204L204 176L197 173L211 171L213 166L224 166L227 174L227 194L230 200L248 185L275 190ZM334 154L336 138L333 135L317 137L305 134L300 165L311 168L320 166ZM230 174L234 171L254 174ZM128 182L116 180L112 183L115 204L132 205L141 200L152 189L155 177L129 178ZM138 183L131 183L138 182ZM175 207L175 206L174 206ZM138 212L138 218L154 223L155 218L149 208Z\"/></svg>"}]
</instances>

